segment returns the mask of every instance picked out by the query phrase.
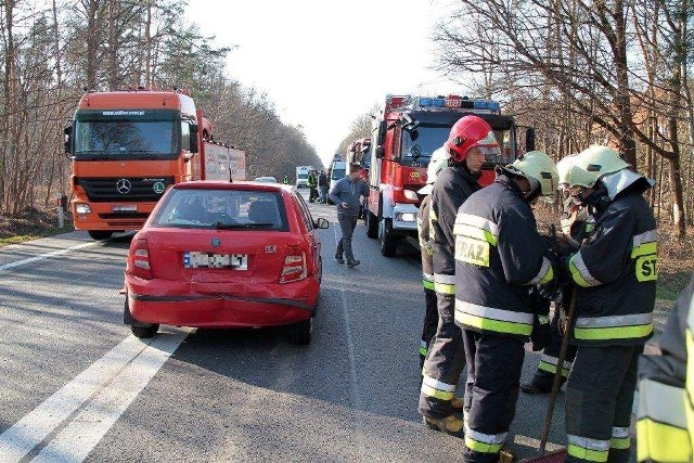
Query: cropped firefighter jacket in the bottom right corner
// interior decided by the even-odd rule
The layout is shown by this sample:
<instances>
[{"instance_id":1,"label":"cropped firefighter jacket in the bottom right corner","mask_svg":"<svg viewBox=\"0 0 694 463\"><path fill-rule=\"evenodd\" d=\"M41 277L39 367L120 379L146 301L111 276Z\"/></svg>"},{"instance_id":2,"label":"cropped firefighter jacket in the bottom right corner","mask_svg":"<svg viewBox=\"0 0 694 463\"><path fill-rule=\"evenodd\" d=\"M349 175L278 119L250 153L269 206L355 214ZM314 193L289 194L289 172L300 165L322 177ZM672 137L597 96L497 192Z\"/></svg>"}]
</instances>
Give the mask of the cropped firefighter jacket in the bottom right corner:
<instances>
[{"instance_id":1,"label":"cropped firefighter jacket in the bottom right corner","mask_svg":"<svg viewBox=\"0 0 694 463\"><path fill-rule=\"evenodd\" d=\"M637 460L694 459L694 278L680 294L658 342L661 356L639 362Z\"/></svg>"}]
</instances>

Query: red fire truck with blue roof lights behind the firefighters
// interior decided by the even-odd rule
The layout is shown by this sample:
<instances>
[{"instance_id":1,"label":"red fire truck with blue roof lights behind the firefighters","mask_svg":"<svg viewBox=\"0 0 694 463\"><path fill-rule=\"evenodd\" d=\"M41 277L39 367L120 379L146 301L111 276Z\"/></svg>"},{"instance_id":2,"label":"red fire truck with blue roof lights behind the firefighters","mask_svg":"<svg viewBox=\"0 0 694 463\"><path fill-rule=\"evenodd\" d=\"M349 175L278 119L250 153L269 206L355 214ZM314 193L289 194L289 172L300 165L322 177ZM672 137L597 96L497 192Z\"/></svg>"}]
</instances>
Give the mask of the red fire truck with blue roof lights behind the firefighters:
<instances>
[{"instance_id":1,"label":"red fire truck with blue roof lights behind the firefighters","mask_svg":"<svg viewBox=\"0 0 694 463\"><path fill-rule=\"evenodd\" d=\"M448 139L453 124L468 114L484 118L498 143L487 153L479 181L483 187L493 181L497 165L512 163L524 150L535 150L535 130L528 127L520 133L513 117L502 115L496 101L459 95L386 97L373 124L370 195L364 218L367 235L380 240L384 256L396 254L398 240L416 236L421 203L416 192L426 184L432 153Z\"/></svg>"}]
</instances>

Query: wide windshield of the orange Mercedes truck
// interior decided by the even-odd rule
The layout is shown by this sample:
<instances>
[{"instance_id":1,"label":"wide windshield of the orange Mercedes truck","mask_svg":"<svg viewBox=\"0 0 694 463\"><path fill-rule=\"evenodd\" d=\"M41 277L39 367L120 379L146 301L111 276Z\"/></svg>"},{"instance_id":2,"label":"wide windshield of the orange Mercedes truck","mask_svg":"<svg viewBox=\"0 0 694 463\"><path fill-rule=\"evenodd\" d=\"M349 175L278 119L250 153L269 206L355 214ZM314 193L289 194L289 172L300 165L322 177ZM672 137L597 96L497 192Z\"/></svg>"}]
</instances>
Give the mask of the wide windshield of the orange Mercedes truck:
<instances>
[{"instance_id":1,"label":"wide windshield of the orange Mercedes truck","mask_svg":"<svg viewBox=\"0 0 694 463\"><path fill-rule=\"evenodd\" d=\"M174 111L77 113L75 158L171 159L179 152L180 118Z\"/></svg>"}]
</instances>

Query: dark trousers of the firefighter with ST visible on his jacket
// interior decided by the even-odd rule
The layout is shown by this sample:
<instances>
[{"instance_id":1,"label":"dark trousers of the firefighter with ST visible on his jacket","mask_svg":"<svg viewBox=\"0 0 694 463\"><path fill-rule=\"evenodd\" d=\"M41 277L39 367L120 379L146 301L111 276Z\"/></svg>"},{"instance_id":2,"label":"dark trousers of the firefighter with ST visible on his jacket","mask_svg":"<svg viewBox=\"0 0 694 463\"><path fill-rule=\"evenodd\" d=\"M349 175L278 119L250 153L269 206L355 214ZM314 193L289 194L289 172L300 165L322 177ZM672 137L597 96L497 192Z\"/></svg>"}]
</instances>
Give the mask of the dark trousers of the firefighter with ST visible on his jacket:
<instances>
[{"instance_id":1,"label":"dark trousers of the firefighter with ST visible on his jacket","mask_svg":"<svg viewBox=\"0 0 694 463\"><path fill-rule=\"evenodd\" d=\"M628 462L643 346L579 346L566 384L569 462Z\"/></svg>"}]
</instances>

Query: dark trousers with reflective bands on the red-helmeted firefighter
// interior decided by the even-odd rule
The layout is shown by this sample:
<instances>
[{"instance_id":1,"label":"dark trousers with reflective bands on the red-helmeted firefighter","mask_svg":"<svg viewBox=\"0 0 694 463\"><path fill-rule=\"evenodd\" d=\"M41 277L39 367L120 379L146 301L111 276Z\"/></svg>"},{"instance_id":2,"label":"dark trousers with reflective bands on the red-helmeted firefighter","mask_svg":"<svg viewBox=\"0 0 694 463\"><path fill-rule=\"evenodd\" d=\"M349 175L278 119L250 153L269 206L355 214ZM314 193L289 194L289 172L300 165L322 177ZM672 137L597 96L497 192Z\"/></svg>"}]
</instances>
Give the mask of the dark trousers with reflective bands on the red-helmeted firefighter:
<instances>
[{"instance_id":1,"label":"dark trousers with reflective bands on the red-helmeted firefighter","mask_svg":"<svg viewBox=\"0 0 694 463\"><path fill-rule=\"evenodd\" d=\"M442 419L453 413L451 400L465 366L461 329L455 324L455 296L436 293L438 325L422 369L420 414Z\"/></svg>"}]
</instances>

